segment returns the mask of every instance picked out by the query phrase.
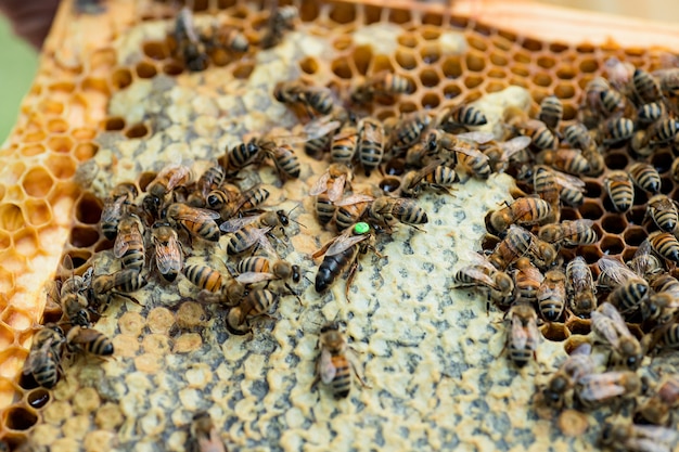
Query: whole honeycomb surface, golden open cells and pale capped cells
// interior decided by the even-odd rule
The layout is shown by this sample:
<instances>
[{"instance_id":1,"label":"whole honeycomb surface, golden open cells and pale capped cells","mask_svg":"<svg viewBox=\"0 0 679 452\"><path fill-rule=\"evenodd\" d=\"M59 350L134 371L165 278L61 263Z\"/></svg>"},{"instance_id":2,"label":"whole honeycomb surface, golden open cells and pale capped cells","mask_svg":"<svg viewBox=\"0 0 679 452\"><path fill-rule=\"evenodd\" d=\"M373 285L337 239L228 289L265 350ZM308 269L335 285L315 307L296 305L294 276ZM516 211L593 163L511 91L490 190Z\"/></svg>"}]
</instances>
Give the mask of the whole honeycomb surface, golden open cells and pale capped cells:
<instances>
[{"instance_id":1,"label":"whole honeycomb surface, golden open cells and pale capped cells","mask_svg":"<svg viewBox=\"0 0 679 452\"><path fill-rule=\"evenodd\" d=\"M119 266L99 230L111 189L129 181L143 191L168 164L204 168L247 132L297 127L296 116L271 96L279 80L303 77L344 92L359 76L395 72L414 89L370 105L367 113L380 119L477 102L497 122L509 104L535 114L555 94L567 124L607 59L652 72L671 56L614 43L542 41L434 7L300 0L293 2L296 29L279 46L213 55L207 70L190 73L166 39L177 13L171 3L111 0L104 14L89 15L65 1L0 151L0 437L11 445L29 438L52 451L179 451L191 416L205 410L238 450L590 449L610 409L558 416L533 404L536 382L565 356L563 340L588 334L588 322L549 325L538 364L517 371L503 356L502 313L486 313L477 295L450 290L460 256L481 249L485 214L510 199L514 181L507 175L470 180L454 196L422 196L426 232L399 228L380 246L386 259L363 258L351 302L343 282L323 296L303 283L300 301L281 298L276 322L233 336L226 311L202 302L184 279L150 284L134 294L139 305L115 300L97 323L113 339L114 360L68 363L53 390L21 377L34 327L61 318L59 310L43 312L43 283L62 256L71 256L77 273L90 264L97 273ZM255 49L269 15L258 2L236 0L195 1L193 9L198 26L216 17L242 29ZM264 168L248 181L270 189L267 207L302 205L294 218L304 228L289 231L285 259L311 273L318 261L310 255L333 236L318 227L308 196L325 164L298 154L299 180L280 185L274 170ZM672 160L667 148L652 164L663 192L679 199ZM611 169L629 162L626 150L606 155ZM380 179L375 173L370 181ZM646 198L639 192L630 214L614 214L602 179L584 180L585 203L562 211L563 219L595 221L599 242L582 256L588 263L604 254L629 259L649 232ZM200 242L187 261L223 266ZM335 318L347 321L371 385L355 385L338 402L323 388L310 390L319 325ZM649 372L675 365L675 357L664 357ZM573 434L577 423L585 423L585 435Z\"/></svg>"}]
</instances>

